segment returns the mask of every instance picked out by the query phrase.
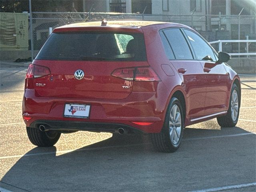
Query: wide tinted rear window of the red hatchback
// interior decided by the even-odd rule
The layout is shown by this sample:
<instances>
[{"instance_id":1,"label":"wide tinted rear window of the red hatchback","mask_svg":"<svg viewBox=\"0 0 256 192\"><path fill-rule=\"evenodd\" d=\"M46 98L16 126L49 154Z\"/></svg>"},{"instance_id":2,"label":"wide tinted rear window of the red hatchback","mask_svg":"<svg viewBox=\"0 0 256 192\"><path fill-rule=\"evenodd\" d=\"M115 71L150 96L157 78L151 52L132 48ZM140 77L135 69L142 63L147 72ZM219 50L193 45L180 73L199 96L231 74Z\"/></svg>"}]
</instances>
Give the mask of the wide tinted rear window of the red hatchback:
<instances>
[{"instance_id":1,"label":"wide tinted rear window of the red hatchback","mask_svg":"<svg viewBox=\"0 0 256 192\"><path fill-rule=\"evenodd\" d=\"M146 61L146 50L143 34L52 33L36 59Z\"/></svg>"}]
</instances>

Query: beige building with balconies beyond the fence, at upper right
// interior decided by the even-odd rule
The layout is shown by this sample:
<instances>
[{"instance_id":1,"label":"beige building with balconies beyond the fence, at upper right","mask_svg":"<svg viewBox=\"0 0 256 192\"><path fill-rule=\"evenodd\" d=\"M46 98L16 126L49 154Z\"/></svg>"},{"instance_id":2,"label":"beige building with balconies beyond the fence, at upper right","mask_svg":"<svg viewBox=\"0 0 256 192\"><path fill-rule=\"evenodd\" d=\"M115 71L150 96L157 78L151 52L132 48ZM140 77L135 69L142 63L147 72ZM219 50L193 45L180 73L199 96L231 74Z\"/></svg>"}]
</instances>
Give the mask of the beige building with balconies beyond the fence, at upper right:
<instances>
[{"instance_id":1,"label":"beige building with balconies beyond the fence, at upper right","mask_svg":"<svg viewBox=\"0 0 256 192\"><path fill-rule=\"evenodd\" d=\"M84 0L85 2L88 2ZM95 1L94 1L95 2ZM96 1L97 2L97 1ZM232 39L256 34L255 0L103 0L106 12L162 15L156 20L180 22L202 31L229 31ZM96 10L97 11L97 10ZM241 13L240 13L241 12ZM240 19L238 17L240 14ZM193 16L192 16L193 15ZM215 16L210 16L215 15ZM217 16L218 15L218 16ZM152 17L146 17L154 19ZM240 21L239 21L240 20Z\"/></svg>"}]
</instances>

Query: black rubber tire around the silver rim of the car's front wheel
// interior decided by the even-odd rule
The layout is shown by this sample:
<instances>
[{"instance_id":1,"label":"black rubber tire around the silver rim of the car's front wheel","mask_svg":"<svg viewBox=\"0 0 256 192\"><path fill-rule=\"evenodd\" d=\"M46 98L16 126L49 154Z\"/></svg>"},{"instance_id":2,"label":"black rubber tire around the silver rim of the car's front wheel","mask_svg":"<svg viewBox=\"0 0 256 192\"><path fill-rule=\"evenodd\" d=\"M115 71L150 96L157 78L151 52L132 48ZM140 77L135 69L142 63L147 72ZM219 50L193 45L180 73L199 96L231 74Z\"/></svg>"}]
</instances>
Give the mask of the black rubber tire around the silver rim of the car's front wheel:
<instances>
[{"instance_id":1,"label":"black rubber tire around the silver rim of the car's front wheel","mask_svg":"<svg viewBox=\"0 0 256 192\"><path fill-rule=\"evenodd\" d=\"M232 94L234 91L236 91L237 96L238 96L238 112L237 112L237 116L236 116L235 120L233 120L233 118L232 118ZM228 113L225 116L217 117L218 124L221 127L236 126L236 124L238 122L239 112L240 112L240 91L239 91L237 85L233 84L232 89L231 89L231 94L230 94Z\"/></svg>"}]
</instances>

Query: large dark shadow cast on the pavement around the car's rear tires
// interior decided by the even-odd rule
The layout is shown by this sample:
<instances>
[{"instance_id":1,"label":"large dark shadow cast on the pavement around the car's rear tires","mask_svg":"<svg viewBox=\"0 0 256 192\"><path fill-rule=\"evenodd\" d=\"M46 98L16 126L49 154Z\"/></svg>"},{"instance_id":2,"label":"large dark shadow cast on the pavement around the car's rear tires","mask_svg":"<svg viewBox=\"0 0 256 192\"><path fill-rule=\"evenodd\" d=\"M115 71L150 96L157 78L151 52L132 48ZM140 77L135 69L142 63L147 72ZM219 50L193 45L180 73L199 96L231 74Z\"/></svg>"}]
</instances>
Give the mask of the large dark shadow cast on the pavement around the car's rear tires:
<instances>
[{"instance_id":1,"label":"large dark shadow cast on the pavement around the car's rear tires","mask_svg":"<svg viewBox=\"0 0 256 192\"><path fill-rule=\"evenodd\" d=\"M225 186L222 178L234 175L239 184L249 177L255 180L256 170L246 166L252 162L254 134L239 127L186 128L181 147L171 154L156 152L148 135L114 135L62 153L54 146L36 147L12 166L0 186L28 191L188 191Z\"/></svg>"}]
</instances>

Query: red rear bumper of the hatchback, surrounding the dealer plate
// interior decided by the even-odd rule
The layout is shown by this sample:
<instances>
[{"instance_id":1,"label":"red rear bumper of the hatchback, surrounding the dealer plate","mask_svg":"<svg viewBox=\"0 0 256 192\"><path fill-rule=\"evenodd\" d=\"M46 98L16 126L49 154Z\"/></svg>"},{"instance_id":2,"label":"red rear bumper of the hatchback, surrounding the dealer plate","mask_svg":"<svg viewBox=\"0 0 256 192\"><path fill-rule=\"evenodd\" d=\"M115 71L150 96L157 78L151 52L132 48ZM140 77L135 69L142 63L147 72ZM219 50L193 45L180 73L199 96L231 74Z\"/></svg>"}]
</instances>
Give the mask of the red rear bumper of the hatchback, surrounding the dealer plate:
<instances>
[{"instance_id":1,"label":"red rear bumper of the hatchback, surrounding the dealer plate","mask_svg":"<svg viewBox=\"0 0 256 192\"><path fill-rule=\"evenodd\" d=\"M163 86L163 84L161 85ZM161 89L158 86L158 89ZM169 93L165 87L162 94L156 92L132 92L121 100L68 99L38 96L35 90L24 92L22 114L31 117L24 120L26 126L38 128L39 123L56 130L86 130L94 132L116 132L122 127L147 133L161 131ZM65 103L90 104L88 119L63 116ZM167 104L166 104L167 103ZM132 122L153 122L151 125L137 125Z\"/></svg>"}]
</instances>

